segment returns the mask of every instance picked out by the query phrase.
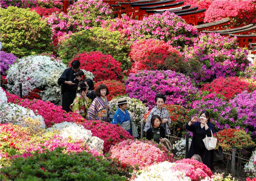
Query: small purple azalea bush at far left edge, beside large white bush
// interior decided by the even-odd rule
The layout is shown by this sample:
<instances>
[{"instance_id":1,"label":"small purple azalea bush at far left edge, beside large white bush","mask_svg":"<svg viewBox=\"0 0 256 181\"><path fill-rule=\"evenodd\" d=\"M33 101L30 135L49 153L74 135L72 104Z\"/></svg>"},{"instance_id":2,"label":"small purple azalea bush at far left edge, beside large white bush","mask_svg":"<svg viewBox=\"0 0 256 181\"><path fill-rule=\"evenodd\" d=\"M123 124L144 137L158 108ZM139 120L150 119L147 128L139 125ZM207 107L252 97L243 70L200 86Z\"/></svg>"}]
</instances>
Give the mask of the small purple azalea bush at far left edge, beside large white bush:
<instances>
[{"instance_id":1,"label":"small purple azalea bush at far left edge, beside large white bush","mask_svg":"<svg viewBox=\"0 0 256 181\"><path fill-rule=\"evenodd\" d=\"M0 51L0 68L1 74L6 75L5 71L9 69L9 66L14 64L18 57L13 55L12 53L5 53L4 51Z\"/></svg>"}]
</instances>

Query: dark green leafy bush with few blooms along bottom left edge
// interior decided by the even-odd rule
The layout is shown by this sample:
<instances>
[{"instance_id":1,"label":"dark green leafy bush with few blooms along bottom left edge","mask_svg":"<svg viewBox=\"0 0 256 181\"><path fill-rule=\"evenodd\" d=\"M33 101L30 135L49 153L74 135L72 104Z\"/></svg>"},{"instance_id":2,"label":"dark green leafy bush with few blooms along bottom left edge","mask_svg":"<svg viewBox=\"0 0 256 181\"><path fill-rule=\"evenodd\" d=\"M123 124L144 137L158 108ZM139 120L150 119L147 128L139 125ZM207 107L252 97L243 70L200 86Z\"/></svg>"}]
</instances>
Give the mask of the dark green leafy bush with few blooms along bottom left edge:
<instances>
[{"instance_id":1,"label":"dark green leafy bush with few blooms along bottom left edge","mask_svg":"<svg viewBox=\"0 0 256 181\"><path fill-rule=\"evenodd\" d=\"M1 169L1 180L127 180L133 167L93 157L87 152L62 153L61 148L52 152L35 153L33 157L19 157L10 167Z\"/></svg>"}]
</instances>

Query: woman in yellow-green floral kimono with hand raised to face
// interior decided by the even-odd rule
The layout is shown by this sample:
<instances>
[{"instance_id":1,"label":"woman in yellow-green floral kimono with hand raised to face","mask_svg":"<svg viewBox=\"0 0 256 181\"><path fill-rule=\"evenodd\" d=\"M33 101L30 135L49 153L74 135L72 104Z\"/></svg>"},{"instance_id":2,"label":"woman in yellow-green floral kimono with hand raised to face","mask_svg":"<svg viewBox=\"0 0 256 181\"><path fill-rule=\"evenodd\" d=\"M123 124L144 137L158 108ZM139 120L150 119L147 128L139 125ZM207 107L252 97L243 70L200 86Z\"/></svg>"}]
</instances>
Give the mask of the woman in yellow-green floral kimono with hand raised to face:
<instances>
[{"instance_id":1,"label":"woman in yellow-green floral kimono with hand raised to face","mask_svg":"<svg viewBox=\"0 0 256 181\"><path fill-rule=\"evenodd\" d=\"M73 113L81 114L81 116L83 116L84 118L86 118L87 110L92 103L92 100L86 97L88 88L89 87L85 83L78 83L76 88L76 98L70 105Z\"/></svg>"}]
</instances>

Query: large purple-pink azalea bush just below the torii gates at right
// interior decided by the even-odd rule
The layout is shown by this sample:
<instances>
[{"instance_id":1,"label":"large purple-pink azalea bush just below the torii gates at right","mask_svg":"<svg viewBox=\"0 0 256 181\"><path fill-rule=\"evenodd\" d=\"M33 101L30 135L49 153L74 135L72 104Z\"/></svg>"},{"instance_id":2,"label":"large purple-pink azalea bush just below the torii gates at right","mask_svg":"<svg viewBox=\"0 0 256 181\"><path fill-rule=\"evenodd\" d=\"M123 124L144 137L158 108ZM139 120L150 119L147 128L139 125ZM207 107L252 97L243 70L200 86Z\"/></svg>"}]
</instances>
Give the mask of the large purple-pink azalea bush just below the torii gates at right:
<instances>
[{"instance_id":1,"label":"large purple-pink azalea bush just below the torii gates at right","mask_svg":"<svg viewBox=\"0 0 256 181\"><path fill-rule=\"evenodd\" d=\"M184 56L189 64L201 65L200 68L187 66L188 75L193 76L196 83L238 75L249 64L247 52L238 47L236 38L201 33L194 38L193 45L184 49Z\"/></svg>"}]
</instances>

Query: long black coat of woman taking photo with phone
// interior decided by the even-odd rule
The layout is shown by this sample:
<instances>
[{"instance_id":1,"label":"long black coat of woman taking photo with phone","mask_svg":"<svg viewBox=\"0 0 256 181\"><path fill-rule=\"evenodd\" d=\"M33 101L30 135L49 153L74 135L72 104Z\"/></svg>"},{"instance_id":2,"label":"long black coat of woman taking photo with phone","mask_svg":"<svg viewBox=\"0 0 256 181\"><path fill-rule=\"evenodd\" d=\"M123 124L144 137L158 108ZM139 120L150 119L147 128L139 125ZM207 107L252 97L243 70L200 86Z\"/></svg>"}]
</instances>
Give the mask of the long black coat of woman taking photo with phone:
<instances>
[{"instance_id":1,"label":"long black coat of woman taking photo with phone","mask_svg":"<svg viewBox=\"0 0 256 181\"><path fill-rule=\"evenodd\" d=\"M200 126L200 122L194 122L191 126L186 125L186 129L189 130L189 131L192 131L193 132L193 138L192 138L192 142L191 142L191 146L189 148L189 152L188 152L188 158L191 158L194 154L196 154L196 146L198 145L198 143L196 143L196 133L195 133L195 130L198 126ZM211 137L212 136L212 133L215 132L215 129L214 129L214 125L211 123L211 122L207 122L206 123L208 125L208 129L205 130L205 135ZM212 130L212 133L211 133L211 130ZM203 163L209 167L211 170L214 170L213 168L213 150L207 150L206 148L203 150L204 152L204 155L202 157L202 160L203 160ZM202 156L202 155L201 155Z\"/></svg>"}]
</instances>

